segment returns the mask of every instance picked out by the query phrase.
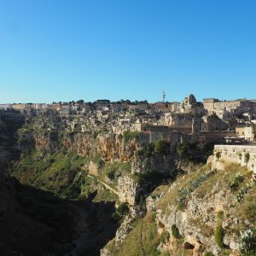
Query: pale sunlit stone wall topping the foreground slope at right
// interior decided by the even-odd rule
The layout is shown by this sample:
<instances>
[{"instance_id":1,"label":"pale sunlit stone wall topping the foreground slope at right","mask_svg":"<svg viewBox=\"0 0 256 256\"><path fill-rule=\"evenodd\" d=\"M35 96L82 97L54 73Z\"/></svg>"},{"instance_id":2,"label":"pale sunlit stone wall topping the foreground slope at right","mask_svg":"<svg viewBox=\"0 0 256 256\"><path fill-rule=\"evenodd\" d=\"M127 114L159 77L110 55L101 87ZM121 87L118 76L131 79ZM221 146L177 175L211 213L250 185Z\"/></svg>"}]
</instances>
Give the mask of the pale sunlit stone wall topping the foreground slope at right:
<instances>
[{"instance_id":1,"label":"pale sunlit stone wall topping the foreground slope at right","mask_svg":"<svg viewBox=\"0 0 256 256\"><path fill-rule=\"evenodd\" d=\"M208 162L217 169L224 169L224 163L235 163L256 173L256 145L215 145Z\"/></svg>"}]
</instances>

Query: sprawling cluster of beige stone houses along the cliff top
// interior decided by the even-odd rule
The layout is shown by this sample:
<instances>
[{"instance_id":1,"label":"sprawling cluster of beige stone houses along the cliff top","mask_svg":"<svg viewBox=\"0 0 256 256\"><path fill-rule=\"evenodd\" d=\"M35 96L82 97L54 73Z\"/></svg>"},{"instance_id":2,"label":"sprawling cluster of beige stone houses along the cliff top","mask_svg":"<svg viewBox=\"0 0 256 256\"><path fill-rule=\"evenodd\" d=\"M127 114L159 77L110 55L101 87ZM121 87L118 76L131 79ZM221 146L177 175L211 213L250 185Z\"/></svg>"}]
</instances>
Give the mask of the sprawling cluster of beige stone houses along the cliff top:
<instances>
[{"instance_id":1,"label":"sprawling cluster of beige stone houses along the cliff top","mask_svg":"<svg viewBox=\"0 0 256 256\"><path fill-rule=\"evenodd\" d=\"M255 140L256 101L219 101L195 96L183 102L69 102L53 104L1 104L27 116L44 115L38 125L46 131L60 127L73 132L139 131L143 140L177 143L252 143ZM48 120L45 119L45 115ZM46 121L45 121L46 120Z\"/></svg>"}]
</instances>

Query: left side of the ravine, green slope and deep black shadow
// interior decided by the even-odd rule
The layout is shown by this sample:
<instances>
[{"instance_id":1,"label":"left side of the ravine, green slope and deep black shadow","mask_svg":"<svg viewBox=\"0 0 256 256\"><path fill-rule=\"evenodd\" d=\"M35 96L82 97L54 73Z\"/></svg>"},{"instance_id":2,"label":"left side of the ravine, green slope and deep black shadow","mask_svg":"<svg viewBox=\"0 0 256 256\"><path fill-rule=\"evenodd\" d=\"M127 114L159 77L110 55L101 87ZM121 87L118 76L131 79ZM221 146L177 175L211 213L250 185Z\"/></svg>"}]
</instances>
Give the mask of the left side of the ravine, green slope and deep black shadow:
<instances>
[{"instance_id":1,"label":"left side of the ravine, green slope and deep black shadow","mask_svg":"<svg viewBox=\"0 0 256 256\"><path fill-rule=\"evenodd\" d=\"M1 112L0 120L1 255L98 255L120 217L112 217L113 201L95 200L101 185L84 183L86 159L35 150L32 134L23 133L33 126L19 112ZM73 201L83 186L86 196Z\"/></svg>"}]
</instances>

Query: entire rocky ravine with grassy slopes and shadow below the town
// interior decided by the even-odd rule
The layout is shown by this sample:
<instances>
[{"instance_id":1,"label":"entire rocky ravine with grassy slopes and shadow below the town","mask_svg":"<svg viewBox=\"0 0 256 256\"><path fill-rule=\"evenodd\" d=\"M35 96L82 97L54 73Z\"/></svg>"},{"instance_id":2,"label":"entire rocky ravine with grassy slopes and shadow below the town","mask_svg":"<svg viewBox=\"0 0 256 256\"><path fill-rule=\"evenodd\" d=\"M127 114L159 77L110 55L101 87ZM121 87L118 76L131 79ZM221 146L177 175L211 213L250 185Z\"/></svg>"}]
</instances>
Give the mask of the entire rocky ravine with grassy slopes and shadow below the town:
<instances>
[{"instance_id":1,"label":"entire rocky ravine with grassy slopes and shadow below the town","mask_svg":"<svg viewBox=\"0 0 256 256\"><path fill-rule=\"evenodd\" d=\"M5 255L255 254L254 153L71 132L53 112L1 120Z\"/></svg>"}]
</instances>

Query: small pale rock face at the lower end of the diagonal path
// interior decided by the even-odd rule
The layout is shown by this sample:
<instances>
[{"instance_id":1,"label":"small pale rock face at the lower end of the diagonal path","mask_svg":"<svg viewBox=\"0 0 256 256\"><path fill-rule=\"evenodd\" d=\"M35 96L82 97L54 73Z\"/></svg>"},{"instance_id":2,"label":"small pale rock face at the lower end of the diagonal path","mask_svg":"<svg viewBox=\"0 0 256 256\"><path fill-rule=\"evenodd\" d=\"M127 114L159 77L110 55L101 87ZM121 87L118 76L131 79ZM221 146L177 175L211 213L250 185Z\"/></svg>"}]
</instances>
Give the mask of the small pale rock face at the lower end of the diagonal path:
<instances>
[{"instance_id":1,"label":"small pale rock face at the lower end of the diagonal path","mask_svg":"<svg viewBox=\"0 0 256 256\"><path fill-rule=\"evenodd\" d=\"M138 201L141 188L129 176L121 176L118 179L119 201L134 206Z\"/></svg>"}]
</instances>

